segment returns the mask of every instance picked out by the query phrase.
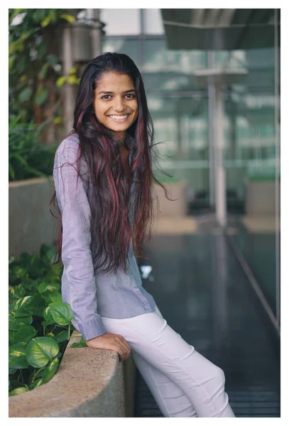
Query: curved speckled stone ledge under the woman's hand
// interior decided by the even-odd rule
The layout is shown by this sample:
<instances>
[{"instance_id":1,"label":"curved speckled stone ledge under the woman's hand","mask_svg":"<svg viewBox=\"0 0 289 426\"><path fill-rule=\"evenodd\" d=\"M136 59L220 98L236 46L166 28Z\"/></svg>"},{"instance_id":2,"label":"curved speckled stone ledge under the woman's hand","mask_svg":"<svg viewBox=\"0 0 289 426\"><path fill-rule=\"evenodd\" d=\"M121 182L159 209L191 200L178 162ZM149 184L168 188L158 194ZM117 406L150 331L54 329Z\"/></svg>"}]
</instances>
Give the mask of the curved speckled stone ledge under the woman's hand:
<instances>
[{"instance_id":1,"label":"curved speckled stone ledge under the woman's hand","mask_svg":"<svg viewBox=\"0 0 289 426\"><path fill-rule=\"evenodd\" d=\"M70 348L79 340L70 339L48 383L9 397L9 417L133 417L134 392L127 400L124 384L131 388L134 379L128 377L135 368L131 356L120 363L116 351Z\"/></svg>"}]
</instances>

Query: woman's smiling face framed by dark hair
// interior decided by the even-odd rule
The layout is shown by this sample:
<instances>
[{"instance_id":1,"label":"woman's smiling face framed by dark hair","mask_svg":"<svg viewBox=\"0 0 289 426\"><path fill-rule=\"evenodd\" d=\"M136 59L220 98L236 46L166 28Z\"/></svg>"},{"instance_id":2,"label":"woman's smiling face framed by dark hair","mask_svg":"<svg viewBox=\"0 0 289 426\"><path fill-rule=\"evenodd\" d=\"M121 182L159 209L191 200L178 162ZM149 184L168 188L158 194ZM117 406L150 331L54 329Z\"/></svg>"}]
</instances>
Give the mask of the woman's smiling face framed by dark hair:
<instances>
[{"instance_id":1,"label":"woman's smiling face framed by dark hair","mask_svg":"<svg viewBox=\"0 0 289 426\"><path fill-rule=\"evenodd\" d=\"M124 141L126 130L138 116L136 89L131 77L104 72L94 89L93 107L97 120Z\"/></svg>"}]
</instances>

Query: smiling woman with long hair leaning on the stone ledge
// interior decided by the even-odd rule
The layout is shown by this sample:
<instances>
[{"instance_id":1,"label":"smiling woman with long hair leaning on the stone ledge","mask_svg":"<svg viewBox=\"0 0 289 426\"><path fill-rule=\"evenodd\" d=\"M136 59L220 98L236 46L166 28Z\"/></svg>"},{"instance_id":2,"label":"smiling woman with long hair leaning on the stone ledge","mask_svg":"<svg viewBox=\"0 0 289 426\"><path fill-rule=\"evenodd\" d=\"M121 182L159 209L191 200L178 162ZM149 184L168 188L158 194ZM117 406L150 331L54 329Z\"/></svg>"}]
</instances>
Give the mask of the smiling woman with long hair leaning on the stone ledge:
<instances>
[{"instance_id":1,"label":"smiling woman with long hair leaning on the stone ledge","mask_svg":"<svg viewBox=\"0 0 289 426\"><path fill-rule=\"evenodd\" d=\"M167 324L141 283L134 253L151 237L159 182L146 94L129 56L104 53L87 64L73 127L53 171L72 323L87 346L121 361L132 355L165 417L234 417L221 368Z\"/></svg>"}]
</instances>

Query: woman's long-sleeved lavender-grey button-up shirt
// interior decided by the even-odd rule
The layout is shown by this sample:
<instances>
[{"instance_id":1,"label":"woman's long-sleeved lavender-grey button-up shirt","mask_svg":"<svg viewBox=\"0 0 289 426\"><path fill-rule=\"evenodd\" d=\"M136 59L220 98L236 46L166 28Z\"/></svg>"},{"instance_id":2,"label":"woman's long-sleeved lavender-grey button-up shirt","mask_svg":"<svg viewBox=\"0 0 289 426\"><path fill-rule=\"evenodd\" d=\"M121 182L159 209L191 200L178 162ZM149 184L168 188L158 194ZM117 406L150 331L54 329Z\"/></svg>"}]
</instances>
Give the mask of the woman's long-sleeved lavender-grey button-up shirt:
<instances>
[{"instance_id":1,"label":"woman's long-sleeved lavender-grey button-up shirt","mask_svg":"<svg viewBox=\"0 0 289 426\"><path fill-rule=\"evenodd\" d=\"M80 177L77 180L78 146L76 133L60 143L55 153L53 178L62 215L62 300L72 308L75 316L72 324L84 340L89 340L106 332L102 317L128 318L155 312L156 302L142 286L132 246L128 274L123 268L116 273L94 269L89 187ZM86 167L83 159L80 167L81 171ZM131 197L134 187L132 184Z\"/></svg>"}]
</instances>

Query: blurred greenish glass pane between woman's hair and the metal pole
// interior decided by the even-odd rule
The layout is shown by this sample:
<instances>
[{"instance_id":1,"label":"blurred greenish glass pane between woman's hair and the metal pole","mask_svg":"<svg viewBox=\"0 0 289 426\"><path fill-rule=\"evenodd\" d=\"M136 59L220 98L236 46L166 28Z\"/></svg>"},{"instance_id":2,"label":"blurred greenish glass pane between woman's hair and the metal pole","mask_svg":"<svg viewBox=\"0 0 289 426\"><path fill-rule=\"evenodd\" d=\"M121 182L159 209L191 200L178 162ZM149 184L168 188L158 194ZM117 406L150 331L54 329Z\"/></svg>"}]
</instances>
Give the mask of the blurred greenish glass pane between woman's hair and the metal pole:
<instances>
[{"instance_id":1,"label":"blurred greenish glass pane between woman's hair and the metal pole","mask_svg":"<svg viewBox=\"0 0 289 426\"><path fill-rule=\"evenodd\" d=\"M187 197L209 197L209 135L207 98L168 98L148 95L148 108L158 143L158 163L178 180L186 180ZM154 166L156 175L164 178ZM166 178L165 178L166 179ZM168 178L169 180L169 178Z\"/></svg>"}]
</instances>

